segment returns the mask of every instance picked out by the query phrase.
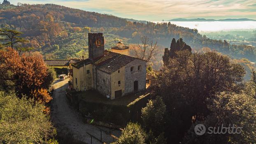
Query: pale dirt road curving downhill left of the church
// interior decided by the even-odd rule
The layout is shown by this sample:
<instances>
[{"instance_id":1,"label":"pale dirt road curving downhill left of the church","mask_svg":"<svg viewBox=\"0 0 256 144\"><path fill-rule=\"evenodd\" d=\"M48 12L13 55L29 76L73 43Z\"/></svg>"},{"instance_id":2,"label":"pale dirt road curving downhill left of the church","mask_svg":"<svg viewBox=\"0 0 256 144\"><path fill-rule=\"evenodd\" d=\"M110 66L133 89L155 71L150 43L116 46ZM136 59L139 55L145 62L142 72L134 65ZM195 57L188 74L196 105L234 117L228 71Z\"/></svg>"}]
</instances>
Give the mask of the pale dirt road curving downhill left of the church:
<instances>
[{"instance_id":1,"label":"pale dirt road curving downhill left of the church","mask_svg":"<svg viewBox=\"0 0 256 144\"><path fill-rule=\"evenodd\" d=\"M54 84L56 91L54 92L53 100L51 102L51 118L57 129L58 135L68 136L72 133L75 140L91 144L91 137L86 132L100 139L99 128L102 128L105 131L102 131L102 141L108 144L113 142L113 138L109 134L106 134L109 129L83 123L81 115L79 115L79 113L68 104L65 96L67 82L67 79L63 81L57 80ZM115 135L120 135L121 132L114 131L113 133ZM92 143L102 144L94 138L92 138Z\"/></svg>"}]
</instances>

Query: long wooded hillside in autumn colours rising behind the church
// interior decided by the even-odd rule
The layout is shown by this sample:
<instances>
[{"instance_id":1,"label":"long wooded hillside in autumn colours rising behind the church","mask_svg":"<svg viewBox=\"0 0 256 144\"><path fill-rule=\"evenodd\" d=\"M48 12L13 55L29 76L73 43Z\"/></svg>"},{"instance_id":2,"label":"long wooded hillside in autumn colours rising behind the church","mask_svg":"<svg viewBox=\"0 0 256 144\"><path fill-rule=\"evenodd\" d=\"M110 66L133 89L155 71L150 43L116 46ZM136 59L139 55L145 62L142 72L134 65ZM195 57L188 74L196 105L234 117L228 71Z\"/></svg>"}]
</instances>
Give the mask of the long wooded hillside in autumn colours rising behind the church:
<instances>
[{"instance_id":1,"label":"long wooded hillside in autumn colours rising behind the church","mask_svg":"<svg viewBox=\"0 0 256 144\"><path fill-rule=\"evenodd\" d=\"M119 40L126 45L137 44L141 36L157 41L162 47L170 47L172 38L182 37L193 50L209 47L233 58L256 61L255 47L230 45L226 41L209 39L196 29L171 23L131 22L116 16L52 4L19 4L13 9L0 10L0 28L22 31L23 37L30 40L28 45L36 51L42 51L45 58L86 56L87 33L102 32L106 49Z\"/></svg>"}]
</instances>

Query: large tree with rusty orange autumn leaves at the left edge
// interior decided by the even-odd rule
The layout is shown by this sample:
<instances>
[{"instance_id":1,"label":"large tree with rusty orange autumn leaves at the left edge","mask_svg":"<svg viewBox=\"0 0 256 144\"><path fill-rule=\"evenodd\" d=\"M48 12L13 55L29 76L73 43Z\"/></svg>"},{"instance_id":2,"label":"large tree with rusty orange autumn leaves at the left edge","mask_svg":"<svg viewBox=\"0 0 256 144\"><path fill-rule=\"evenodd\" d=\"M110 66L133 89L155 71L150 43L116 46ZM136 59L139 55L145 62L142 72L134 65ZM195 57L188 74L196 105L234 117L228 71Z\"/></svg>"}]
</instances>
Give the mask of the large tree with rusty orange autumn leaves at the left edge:
<instances>
[{"instance_id":1,"label":"large tree with rusty orange autumn leaves at the left edge","mask_svg":"<svg viewBox=\"0 0 256 144\"><path fill-rule=\"evenodd\" d=\"M50 80L47 79L49 70L42 56L34 56L29 53L19 56L19 53L12 48L0 50L0 72L0 80L12 81L14 91L19 97L26 95L41 103L51 100L51 96L46 90L50 84L45 81Z\"/></svg>"}]
</instances>

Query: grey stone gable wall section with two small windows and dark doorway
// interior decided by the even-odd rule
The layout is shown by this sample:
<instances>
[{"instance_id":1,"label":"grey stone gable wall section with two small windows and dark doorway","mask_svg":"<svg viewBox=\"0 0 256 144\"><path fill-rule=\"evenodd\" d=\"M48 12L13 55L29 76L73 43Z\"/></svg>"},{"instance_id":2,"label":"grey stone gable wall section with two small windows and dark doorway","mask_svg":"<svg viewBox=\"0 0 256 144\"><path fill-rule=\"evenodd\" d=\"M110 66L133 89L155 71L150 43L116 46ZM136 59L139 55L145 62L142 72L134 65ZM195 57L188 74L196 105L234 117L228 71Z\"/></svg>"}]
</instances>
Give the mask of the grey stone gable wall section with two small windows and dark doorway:
<instances>
[{"instance_id":1,"label":"grey stone gable wall section with two small windows and dark doorway","mask_svg":"<svg viewBox=\"0 0 256 144\"><path fill-rule=\"evenodd\" d=\"M141 65L141 70L138 70L138 66ZM133 72L130 68L133 68ZM134 81L138 81L138 91L144 91L146 89L146 61L135 59L125 66L125 91L124 94L134 92Z\"/></svg>"}]
</instances>

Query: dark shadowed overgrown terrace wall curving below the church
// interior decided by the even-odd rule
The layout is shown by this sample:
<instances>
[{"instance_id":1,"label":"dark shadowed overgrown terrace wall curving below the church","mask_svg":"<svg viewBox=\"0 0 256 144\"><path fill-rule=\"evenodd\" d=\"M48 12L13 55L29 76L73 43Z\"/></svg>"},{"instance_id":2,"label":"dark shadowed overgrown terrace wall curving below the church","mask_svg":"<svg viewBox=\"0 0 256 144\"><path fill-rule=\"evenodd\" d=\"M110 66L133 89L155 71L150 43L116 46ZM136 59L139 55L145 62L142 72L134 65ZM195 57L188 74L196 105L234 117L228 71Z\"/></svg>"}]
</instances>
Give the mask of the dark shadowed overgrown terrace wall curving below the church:
<instances>
[{"instance_id":1,"label":"dark shadowed overgrown terrace wall curving below the church","mask_svg":"<svg viewBox=\"0 0 256 144\"><path fill-rule=\"evenodd\" d=\"M125 126L129 121L141 122L141 109L147 105L151 95L136 99L129 105L110 105L101 102L87 102L76 95L67 92L67 98L88 121L88 116L93 121L104 121L115 125Z\"/></svg>"}]
</instances>

